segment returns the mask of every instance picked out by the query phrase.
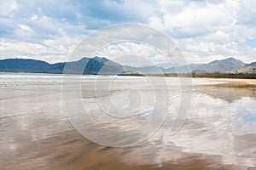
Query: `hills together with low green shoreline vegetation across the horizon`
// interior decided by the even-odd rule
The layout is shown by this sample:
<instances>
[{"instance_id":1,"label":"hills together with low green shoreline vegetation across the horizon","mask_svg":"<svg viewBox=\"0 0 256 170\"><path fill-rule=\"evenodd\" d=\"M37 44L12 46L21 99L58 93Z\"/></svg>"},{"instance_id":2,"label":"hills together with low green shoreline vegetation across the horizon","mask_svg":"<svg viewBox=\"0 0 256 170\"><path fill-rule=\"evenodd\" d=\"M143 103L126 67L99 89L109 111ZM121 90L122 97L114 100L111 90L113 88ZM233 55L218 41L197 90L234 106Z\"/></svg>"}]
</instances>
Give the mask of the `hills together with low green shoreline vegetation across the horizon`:
<instances>
[{"instance_id":1,"label":"hills together with low green shoreline vegetation across the horizon","mask_svg":"<svg viewBox=\"0 0 256 170\"><path fill-rule=\"evenodd\" d=\"M85 65L85 66L84 66ZM32 73L64 73L67 74L102 74L102 75L119 75L119 76L150 76L150 77L212 77L212 78L256 78L256 62L245 66L240 60L229 58L215 60L209 64L197 65L197 68L205 70L192 70L192 73L173 73L166 72L163 68L148 66L136 68L126 65L120 65L110 59L94 57L83 58L78 61L67 63L49 64L45 61L35 59L2 59L0 60L0 72L32 72ZM66 67L65 67L66 66ZM224 70L240 67L239 70L223 72L209 72L210 69ZM183 67L181 67L183 68ZM161 74L161 72L164 72ZM189 71L183 71L189 72Z\"/></svg>"}]
</instances>

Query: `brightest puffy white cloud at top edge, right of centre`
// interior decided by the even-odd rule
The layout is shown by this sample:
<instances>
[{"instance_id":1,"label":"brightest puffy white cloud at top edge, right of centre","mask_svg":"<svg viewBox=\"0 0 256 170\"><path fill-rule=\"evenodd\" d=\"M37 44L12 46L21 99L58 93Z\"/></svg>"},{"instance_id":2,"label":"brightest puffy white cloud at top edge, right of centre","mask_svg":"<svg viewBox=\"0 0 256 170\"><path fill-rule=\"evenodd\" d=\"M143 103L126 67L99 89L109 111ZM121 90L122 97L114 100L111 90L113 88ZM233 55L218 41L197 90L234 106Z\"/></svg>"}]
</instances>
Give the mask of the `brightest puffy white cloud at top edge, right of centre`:
<instances>
[{"instance_id":1,"label":"brightest puffy white cloud at top edge, right of centre","mask_svg":"<svg viewBox=\"0 0 256 170\"><path fill-rule=\"evenodd\" d=\"M194 37L217 30L220 26L232 26L236 21L223 4L178 3L178 10L172 10L172 5L173 3L166 4L160 1L160 7L167 7L160 8L163 16L160 16L161 22L156 23L161 23L163 26L160 25L160 28L169 31L175 37ZM154 19L159 20L154 17L151 18L151 22L154 23ZM159 25L154 27L157 28Z\"/></svg>"}]
</instances>

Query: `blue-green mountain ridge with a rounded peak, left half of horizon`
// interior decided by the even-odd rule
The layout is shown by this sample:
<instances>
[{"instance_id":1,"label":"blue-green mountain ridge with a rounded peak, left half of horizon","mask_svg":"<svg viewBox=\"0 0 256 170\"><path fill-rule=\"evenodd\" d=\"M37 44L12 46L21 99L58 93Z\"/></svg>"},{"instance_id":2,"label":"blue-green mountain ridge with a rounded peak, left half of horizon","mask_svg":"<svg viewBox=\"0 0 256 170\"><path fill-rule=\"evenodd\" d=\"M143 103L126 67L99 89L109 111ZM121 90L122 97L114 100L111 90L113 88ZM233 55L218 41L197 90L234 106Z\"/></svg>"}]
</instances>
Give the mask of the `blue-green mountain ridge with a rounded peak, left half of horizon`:
<instances>
[{"instance_id":1,"label":"blue-green mountain ridge with a rounded peak, left half of horizon","mask_svg":"<svg viewBox=\"0 0 256 170\"><path fill-rule=\"evenodd\" d=\"M67 63L49 64L37 59L2 59L0 60L1 72L32 72L32 73L58 73L64 71L65 65L68 65L67 72L79 74L116 74L125 70L125 66L119 65L109 59L94 57L79 59ZM85 66L85 68L84 68Z\"/></svg>"}]
</instances>

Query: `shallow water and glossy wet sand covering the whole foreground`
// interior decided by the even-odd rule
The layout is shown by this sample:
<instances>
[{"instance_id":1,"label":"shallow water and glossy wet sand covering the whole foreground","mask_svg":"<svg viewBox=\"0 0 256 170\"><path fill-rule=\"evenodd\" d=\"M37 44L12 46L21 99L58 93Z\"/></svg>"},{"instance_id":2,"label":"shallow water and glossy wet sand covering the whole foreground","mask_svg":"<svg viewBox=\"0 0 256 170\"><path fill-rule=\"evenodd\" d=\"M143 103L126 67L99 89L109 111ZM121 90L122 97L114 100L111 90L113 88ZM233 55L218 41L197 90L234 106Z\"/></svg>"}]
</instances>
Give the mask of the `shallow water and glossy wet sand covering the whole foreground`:
<instances>
[{"instance_id":1,"label":"shallow water and glossy wet sand covering the whole foreground","mask_svg":"<svg viewBox=\"0 0 256 170\"><path fill-rule=\"evenodd\" d=\"M113 79L110 90L102 85L109 79ZM154 99L159 88L152 88L144 77L73 76L68 81L81 81L84 108L96 122L120 132L147 122L154 105L164 103ZM255 88L222 88L213 86L217 82L193 80L193 88L183 91L191 95L183 122L174 113L179 102L187 100L181 98L179 80L167 78L170 95L165 123L142 143L113 148L90 142L73 127L61 82L61 75L0 74L0 169L256 168ZM73 87L68 90L72 93ZM108 107L108 97L115 107ZM112 115L103 116L104 109ZM136 114L127 119L120 114L130 112ZM108 134L83 119L80 122L90 127L90 135L97 133L103 143L108 142ZM172 128L178 123L180 128ZM140 130L134 131L134 139L148 133ZM131 133L121 135L124 140L132 137Z\"/></svg>"}]
</instances>

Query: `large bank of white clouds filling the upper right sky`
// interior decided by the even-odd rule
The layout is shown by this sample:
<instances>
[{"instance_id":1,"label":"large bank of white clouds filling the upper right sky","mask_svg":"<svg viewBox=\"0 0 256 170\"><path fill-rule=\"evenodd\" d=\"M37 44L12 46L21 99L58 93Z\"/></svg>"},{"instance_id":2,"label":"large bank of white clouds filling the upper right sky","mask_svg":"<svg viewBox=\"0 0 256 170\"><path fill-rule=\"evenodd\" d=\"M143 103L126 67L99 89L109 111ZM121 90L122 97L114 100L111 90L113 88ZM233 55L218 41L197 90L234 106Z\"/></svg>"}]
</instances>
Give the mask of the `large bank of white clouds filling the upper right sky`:
<instances>
[{"instance_id":1,"label":"large bank of white clouds filling the upper right sky","mask_svg":"<svg viewBox=\"0 0 256 170\"><path fill-rule=\"evenodd\" d=\"M256 38L256 3L250 2L159 1L162 15L148 23L173 37L189 63L230 56L252 62L255 53L245 43Z\"/></svg>"}]
</instances>

